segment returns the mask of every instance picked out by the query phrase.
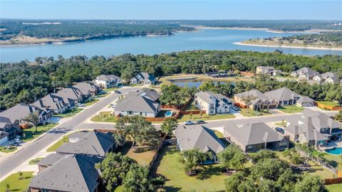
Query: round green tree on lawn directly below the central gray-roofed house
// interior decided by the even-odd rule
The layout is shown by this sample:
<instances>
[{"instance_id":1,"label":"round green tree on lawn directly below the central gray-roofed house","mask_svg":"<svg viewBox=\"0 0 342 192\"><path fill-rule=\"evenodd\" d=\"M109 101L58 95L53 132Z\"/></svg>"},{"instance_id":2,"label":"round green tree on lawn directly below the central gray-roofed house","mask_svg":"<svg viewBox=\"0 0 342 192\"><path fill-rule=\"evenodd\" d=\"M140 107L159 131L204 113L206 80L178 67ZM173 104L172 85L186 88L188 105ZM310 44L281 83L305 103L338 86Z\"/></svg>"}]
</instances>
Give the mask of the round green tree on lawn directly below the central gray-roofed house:
<instances>
[{"instance_id":1,"label":"round green tree on lawn directly below the central gray-roofed house","mask_svg":"<svg viewBox=\"0 0 342 192\"><path fill-rule=\"evenodd\" d=\"M199 151L199 149L184 150L181 152L180 162L184 164L185 171L194 173L199 166L205 160L208 155Z\"/></svg>"}]
</instances>

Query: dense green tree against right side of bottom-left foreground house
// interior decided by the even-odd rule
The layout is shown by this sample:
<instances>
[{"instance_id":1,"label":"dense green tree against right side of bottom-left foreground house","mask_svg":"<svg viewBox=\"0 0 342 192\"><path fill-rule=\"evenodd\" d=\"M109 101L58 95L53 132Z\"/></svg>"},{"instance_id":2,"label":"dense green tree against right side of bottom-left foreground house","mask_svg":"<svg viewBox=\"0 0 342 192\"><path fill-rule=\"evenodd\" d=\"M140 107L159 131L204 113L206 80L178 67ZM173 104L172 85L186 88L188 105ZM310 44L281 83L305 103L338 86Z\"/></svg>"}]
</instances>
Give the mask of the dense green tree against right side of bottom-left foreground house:
<instances>
[{"instance_id":1,"label":"dense green tree against right side of bottom-left foreground house","mask_svg":"<svg viewBox=\"0 0 342 192\"><path fill-rule=\"evenodd\" d=\"M128 156L123 156L120 153L108 153L102 162L95 165L95 168L100 169L100 178L105 183L105 188L111 191L123 183L130 167L135 164L137 162Z\"/></svg>"}]
</instances>

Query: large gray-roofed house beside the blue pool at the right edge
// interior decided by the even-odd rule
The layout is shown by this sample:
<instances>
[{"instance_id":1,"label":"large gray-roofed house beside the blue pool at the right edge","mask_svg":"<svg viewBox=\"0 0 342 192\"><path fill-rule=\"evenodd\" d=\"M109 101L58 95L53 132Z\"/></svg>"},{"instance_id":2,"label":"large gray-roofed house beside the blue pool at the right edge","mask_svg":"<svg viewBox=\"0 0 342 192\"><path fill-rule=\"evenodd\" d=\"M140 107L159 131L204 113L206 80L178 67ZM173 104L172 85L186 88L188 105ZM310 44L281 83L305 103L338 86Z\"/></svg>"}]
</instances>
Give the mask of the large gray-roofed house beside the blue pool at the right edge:
<instances>
[{"instance_id":1,"label":"large gray-roofed house beside the blue pool at the right edge","mask_svg":"<svg viewBox=\"0 0 342 192\"><path fill-rule=\"evenodd\" d=\"M342 137L342 124L327 114L305 109L286 120L285 134L294 142L325 146L328 141Z\"/></svg>"}]
</instances>

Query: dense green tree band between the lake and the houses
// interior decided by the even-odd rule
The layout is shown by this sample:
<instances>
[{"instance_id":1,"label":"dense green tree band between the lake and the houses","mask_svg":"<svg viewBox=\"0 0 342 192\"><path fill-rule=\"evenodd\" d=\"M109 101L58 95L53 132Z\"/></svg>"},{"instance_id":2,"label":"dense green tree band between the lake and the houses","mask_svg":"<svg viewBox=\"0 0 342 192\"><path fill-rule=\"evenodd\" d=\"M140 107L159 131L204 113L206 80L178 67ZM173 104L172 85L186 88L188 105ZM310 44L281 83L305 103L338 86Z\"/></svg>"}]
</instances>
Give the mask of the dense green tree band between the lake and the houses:
<instances>
[{"instance_id":1,"label":"dense green tree band between the lake and the houses","mask_svg":"<svg viewBox=\"0 0 342 192\"><path fill-rule=\"evenodd\" d=\"M342 77L342 56L339 55L308 57L282 54L279 51L259 53L242 50L194 50L160 55L125 54L110 58L87 58L83 55L63 58L59 55L57 58L36 58L34 63L1 63L0 110L6 110L19 102L34 102L58 87L93 80L102 74L115 74L123 80L130 80L140 71L160 77L176 73L201 74L216 70L255 72L259 65L274 66L285 73L309 67L319 73L331 71ZM326 90L330 85L313 86ZM322 94L319 98L323 96Z\"/></svg>"}]
</instances>

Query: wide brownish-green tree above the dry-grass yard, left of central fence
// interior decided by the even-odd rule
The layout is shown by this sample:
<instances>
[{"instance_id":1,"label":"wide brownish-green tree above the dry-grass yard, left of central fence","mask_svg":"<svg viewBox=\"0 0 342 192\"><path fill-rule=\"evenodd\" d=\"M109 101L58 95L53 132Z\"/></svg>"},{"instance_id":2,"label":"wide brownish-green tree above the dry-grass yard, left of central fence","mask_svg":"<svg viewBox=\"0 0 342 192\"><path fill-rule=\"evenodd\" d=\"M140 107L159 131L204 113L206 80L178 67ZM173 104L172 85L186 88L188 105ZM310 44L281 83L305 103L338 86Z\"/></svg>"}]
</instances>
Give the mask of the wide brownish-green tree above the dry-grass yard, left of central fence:
<instances>
[{"instance_id":1,"label":"wide brownish-green tree above the dry-grass yard, left of central fence","mask_svg":"<svg viewBox=\"0 0 342 192\"><path fill-rule=\"evenodd\" d=\"M115 129L118 129L118 134L122 134L123 137L130 137L132 146L147 142L156 134L155 127L141 115L120 117Z\"/></svg>"}]
</instances>

